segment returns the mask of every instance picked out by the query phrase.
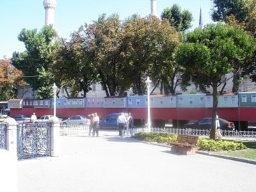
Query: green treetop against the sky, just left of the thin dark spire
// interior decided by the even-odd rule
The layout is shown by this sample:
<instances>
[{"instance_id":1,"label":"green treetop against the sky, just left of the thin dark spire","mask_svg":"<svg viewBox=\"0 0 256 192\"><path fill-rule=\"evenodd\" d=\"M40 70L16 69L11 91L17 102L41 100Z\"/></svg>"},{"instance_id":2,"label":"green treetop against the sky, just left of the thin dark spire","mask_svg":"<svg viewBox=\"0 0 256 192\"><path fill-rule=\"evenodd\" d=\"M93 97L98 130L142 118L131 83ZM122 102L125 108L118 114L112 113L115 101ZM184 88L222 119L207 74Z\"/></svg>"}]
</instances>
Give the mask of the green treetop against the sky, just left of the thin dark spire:
<instances>
[{"instance_id":1,"label":"green treetop against the sky, just left of the thin dark spire","mask_svg":"<svg viewBox=\"0 0 256 192\"><path fill-rule=\"evenodd\" d=\"M192 13L189 10L181 10L178 4L173 4L170 8L165 8L161 14L161 19L167 19L171 26L175 27L177 31L186 31L191 28L191 21L193 20Z\"/></svg>"}]
</instances>

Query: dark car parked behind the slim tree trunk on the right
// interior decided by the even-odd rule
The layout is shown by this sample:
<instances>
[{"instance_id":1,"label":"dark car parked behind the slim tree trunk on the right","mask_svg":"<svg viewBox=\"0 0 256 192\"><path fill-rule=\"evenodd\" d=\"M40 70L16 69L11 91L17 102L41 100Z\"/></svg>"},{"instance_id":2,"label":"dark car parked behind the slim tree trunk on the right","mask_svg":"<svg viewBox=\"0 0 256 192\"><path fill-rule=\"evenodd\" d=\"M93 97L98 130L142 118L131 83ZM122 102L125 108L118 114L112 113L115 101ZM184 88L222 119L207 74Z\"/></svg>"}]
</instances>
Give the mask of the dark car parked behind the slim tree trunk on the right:
<instances>
[{"instance_id":1,"label":"dark car parked behind the slim tree trunk on the right","mask_svg":"<svg viewBox=\"0 0 256 192\"><path fill-rule=\"evenodd\" d=\"M225 131L234 131L235 125L233 122L228 122L227 120L223 118L219 118L220 121L220 129ZM198 120L195 123L186 124L184 125L184 129L211 129L212 124L212 118L203 118L201 120Z\"/></svg>"}]
</instances>

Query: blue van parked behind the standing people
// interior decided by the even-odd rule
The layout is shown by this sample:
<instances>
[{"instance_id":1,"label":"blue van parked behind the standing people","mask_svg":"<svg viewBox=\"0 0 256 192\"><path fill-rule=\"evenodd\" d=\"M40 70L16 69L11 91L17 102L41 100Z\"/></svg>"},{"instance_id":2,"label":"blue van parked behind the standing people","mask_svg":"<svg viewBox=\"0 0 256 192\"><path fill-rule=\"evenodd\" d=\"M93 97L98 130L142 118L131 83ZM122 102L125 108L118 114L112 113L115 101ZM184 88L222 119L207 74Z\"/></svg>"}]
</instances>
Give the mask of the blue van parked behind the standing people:
<instances>
[{"instance_id":1,"label":"blue van parked behind the standing people","mask_svg":"<svg viewBox=\"0 0 256 192\"><path fill-rule=\"evenodd\" d=\"M100 129L102 129L102 128L118 129L117 118L119 115L120 115L120 113L111 113L109 115L106 115L99 122ZM124 115L126 118L128 117L128 113L124 113Z\"/></svg>"}]
</instances>

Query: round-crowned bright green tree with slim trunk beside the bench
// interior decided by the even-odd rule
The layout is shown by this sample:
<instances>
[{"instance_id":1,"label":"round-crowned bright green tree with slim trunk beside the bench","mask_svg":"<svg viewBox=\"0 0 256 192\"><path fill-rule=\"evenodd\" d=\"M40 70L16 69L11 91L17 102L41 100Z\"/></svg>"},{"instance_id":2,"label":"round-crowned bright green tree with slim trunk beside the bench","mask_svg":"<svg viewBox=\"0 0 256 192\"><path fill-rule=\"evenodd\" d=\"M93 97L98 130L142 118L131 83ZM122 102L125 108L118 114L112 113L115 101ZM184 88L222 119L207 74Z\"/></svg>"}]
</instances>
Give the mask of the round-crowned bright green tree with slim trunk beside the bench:
<instances>
[{"instance_id":1,"label":"round-crowned bright green tree with slim trunk beside the bench","mask_svg":"<svg viewBox=\"0 0 256 192\"><path fill-rule=\"evenodd\" d=\"M239 26L209 24L204 29L195 29L186 34L186 43L181 45L177 60L184 67L182 81L193 82L205 90L212 87L212 129L211 139L215 138L215 120L218 106L218 86L223 76L240 67L253 57L255 41Z\"/></svg>"}]
</instances>

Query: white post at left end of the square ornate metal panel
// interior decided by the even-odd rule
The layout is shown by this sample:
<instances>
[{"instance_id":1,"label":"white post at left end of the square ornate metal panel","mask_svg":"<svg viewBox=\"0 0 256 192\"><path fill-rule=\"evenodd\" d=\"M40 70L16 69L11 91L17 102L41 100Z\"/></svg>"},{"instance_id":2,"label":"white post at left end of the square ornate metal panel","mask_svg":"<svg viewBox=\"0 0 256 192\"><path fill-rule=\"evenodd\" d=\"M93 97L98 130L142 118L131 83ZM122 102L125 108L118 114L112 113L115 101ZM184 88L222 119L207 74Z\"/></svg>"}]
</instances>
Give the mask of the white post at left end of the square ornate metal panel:
<instances>
[{"instance_id":1,"label":"white post at left end of the square ornate metal panel","mask_svg":"<svg viewBox=\"0 0 256 192\"><path fill-rule=\"evenodd\" d=\"M8 117L4 120L6 124L6 150L10 156L17 159L17 122L14 118Z\"/></svg>"}]
</instances>

